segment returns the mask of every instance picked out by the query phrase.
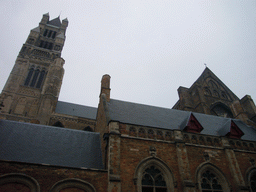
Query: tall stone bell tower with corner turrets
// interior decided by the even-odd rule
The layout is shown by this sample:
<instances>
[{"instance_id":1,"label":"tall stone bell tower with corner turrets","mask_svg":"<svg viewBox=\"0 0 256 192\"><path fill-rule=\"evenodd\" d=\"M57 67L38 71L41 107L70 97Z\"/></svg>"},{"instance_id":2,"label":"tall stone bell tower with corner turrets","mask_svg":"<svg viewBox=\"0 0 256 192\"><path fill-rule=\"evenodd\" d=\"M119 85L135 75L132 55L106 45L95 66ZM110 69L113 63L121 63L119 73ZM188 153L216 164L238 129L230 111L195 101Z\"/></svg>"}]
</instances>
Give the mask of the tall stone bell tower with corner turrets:
<instances>
[{"instance_id":1,"label":"tall stone bell tower with corner turrets","mask_svg":"<svg viewBox=\"0 0 256 192\"><path fill-rule=\"evenodd\" d=\"M0 95L0 118L48 124L64 75L61 51L68 20L44 14L23 44Z\"/></svg>"}]
</instances>

